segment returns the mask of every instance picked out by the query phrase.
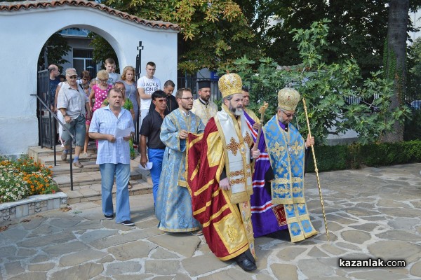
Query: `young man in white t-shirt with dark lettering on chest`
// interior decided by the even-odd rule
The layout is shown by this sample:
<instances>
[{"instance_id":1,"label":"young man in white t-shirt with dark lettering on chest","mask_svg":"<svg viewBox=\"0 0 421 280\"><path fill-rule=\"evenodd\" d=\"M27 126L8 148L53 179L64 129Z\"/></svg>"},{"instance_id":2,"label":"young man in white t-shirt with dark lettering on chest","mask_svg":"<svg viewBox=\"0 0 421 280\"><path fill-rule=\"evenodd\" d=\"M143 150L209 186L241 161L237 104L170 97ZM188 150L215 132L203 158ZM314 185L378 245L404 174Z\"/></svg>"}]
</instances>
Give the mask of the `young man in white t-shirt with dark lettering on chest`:
<instances>
[{"instance_id":1,"label":"young man in white t-shirt with dark lettering on chest","mask_svg":"<svg viewBox=\"0 0 421 280\"><path fill-rule=\"evenodd\" d=\"M154 62L147 62L146 64L146 75L142 76L138 80L138 93L140 97L140 123L142 127L142 121L149 113L149 107L151 106L152 93L156 90L161 90L161 81L159 78L154 77L156 66Z\"/></svg>"}]
</instances>

